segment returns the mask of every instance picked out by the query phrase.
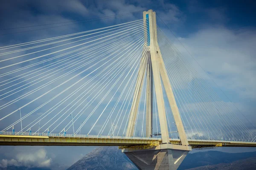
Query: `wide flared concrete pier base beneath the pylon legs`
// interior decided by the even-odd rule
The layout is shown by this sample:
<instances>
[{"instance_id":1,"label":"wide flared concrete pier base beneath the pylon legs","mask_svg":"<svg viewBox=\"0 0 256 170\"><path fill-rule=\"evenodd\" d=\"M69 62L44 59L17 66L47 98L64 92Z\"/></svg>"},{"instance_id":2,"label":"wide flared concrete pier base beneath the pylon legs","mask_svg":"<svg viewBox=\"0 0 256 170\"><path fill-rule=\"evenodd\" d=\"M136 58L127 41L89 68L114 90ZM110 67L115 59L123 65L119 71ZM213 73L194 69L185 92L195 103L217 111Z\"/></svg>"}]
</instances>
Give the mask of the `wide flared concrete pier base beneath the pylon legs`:
<instances>
[{"instance_id":1,"label":"wide flared concrete pier base beneath the pylon legs","mask_svg":"<svg viewBox=\"0 0 256 170\"><path fill-rule=\"evenodd\" d=\"M160 144L144 150L122 150L140 170L177 170L190 146Z\"/></svg>"}]
</instances>

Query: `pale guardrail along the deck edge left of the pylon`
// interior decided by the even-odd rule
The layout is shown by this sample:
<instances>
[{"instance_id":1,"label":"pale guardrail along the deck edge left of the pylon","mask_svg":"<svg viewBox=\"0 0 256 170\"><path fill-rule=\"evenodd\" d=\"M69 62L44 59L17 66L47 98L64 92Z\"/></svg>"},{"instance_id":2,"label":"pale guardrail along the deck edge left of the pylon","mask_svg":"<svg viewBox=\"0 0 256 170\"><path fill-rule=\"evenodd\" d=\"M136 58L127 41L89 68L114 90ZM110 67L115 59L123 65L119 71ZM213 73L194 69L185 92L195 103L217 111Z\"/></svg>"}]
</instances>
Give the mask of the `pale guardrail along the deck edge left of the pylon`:
<instances>
[{"instance_id":1,"label":"pale guardrail along the deck edge left of the pylon","mask_svg":"<svg viewBox=\"0 0 256 170\"><path fill-rule=\"evenodd\" d=\"M12 136L49 136L49 137L76 137L76 138L104 138L104 139L137 139L137 140L162 140L162 138L149 137L127 137L127 136L104 136L104 135L81 135L81 134L65 134L65 133L33 133L33 132L6 132L0 131L0 135Z\"/></svg>"}]
</instances>

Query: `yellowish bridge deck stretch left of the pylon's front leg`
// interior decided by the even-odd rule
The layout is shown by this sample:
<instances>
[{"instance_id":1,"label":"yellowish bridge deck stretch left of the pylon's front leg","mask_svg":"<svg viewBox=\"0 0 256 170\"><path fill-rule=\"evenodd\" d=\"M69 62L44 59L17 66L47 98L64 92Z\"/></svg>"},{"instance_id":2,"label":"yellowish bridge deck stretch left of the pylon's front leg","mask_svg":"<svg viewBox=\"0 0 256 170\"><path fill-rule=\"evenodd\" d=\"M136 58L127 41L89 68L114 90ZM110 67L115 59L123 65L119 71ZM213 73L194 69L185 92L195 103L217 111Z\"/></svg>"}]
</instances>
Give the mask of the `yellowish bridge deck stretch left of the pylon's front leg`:
<instances>
[{"instance_id":1,"label":"yellowish bridge deck stretch left of the pylon's front leg","mask_svg":"<svg viewBox=\"0 0 256 170\"><path fill-rule=\"evenodd\" d=\"M151 144L155 141L162 140L126 136L0 132L0 145L132 146Z\"/></svg>"}]
</instances>

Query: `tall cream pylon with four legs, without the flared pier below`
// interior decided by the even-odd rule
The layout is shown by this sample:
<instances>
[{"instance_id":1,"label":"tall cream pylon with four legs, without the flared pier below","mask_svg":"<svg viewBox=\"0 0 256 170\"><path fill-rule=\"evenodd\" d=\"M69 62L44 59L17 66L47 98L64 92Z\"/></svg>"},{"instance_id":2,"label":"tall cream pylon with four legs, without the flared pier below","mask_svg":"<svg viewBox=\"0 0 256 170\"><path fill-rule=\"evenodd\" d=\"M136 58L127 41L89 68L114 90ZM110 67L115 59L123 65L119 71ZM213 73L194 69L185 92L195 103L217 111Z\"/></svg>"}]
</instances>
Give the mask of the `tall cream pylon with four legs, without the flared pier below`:
<instances>
[{"instance_id":1,"label":"tall cream pylon with four legs, without the flared pier below","mask_svg":"<svg viewBox=\"0 0 256 170\"><path fill-rule=\"evenodd\" d=\"M154 90L156 94L157 110L160 121L160 129L163 143L169 143L169 132L166 120L166 110L164 107L163 88L166 91L166 96L171 106L177 131L182 145L188 145L186 133L180 118L180 113L175 101L175 96L172 91L172 86L166 72L163 62L162 54L157 42L157 24L156 13L152 10L143 12L144 26L145 26L145 46L149 46L149 50L143 53L140 68L138 72L137 82L134 91L133 103L130 111L128 128L126 136L134 135L134 127L138 113L138 106L140 96L143 88L143 78L147 76L147 90L146 90L146 136L150 137L152 134L152 91L153 79ZM149 40L149 41L148 41ZM148 49L148 48L147 48ZM163 82L163 88L162 88Z\"/></svg>"}]
</instances>

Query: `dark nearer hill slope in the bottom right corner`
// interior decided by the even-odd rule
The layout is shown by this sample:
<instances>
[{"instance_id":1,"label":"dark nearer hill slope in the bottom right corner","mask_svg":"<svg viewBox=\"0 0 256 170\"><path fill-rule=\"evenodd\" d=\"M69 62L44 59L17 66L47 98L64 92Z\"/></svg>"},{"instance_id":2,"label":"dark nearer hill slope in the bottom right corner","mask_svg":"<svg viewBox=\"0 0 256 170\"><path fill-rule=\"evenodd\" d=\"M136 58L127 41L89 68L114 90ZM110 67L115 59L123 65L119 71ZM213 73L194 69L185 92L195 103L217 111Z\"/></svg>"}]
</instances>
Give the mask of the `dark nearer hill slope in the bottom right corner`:
<instances>
[{"instance_id":1,"label":"dark nearer hill slope in the bottom right corner","mask_svg":"<svg viewBox=\"0 0 256 170\"><path fill-rule=\"evenodd\" d=\"M231 163L221 163L215 165L206 165L195 167L189 170L255 170L256 158L242 159Z\"/></svg>"}]
</instances>

